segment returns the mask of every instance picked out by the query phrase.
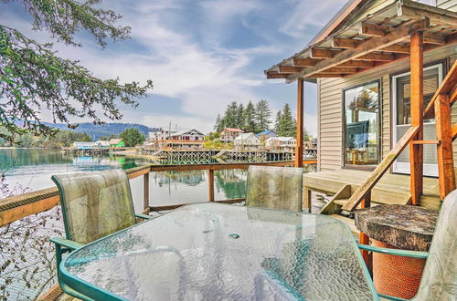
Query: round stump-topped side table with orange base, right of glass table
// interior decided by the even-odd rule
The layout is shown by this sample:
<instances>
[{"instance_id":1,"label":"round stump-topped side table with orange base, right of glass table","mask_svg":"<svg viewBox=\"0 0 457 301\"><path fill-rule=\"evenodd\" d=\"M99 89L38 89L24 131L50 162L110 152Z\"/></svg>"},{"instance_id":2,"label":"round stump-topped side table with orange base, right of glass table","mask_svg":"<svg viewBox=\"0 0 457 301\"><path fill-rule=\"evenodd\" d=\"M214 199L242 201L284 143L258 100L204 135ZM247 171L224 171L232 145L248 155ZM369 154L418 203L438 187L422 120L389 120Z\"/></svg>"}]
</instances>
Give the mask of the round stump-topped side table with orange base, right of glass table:
<instances>
[{"instance_id":1,"label":"round stump-topped side table with orange base, right of glass table","mask_svg":"<svg viewBox=\"0 0 457 301\"><path fill-rule=\"evenodd\" d=\"M409 205L379 205L356 211L356 227L378 247L427 252L438 212ZM373 253L377 292L412 298L416 295L425 259Z\"/></svg>"}]
</instances>

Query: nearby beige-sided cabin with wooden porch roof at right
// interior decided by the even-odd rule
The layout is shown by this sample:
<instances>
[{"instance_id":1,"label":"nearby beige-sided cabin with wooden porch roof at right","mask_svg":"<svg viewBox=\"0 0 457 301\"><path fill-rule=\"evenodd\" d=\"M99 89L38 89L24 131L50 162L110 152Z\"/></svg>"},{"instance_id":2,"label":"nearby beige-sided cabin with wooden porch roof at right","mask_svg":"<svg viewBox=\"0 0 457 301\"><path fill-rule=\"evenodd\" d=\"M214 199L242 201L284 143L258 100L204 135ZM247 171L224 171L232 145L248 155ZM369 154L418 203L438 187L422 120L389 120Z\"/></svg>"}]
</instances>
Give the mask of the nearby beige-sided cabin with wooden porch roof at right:
<instances>
[{"instance_id":1,"label":"nearby beige-sided cabin with wooden porch roof at right","mask_svg":"<svg viewBox=\"0 0 457 301\"><path fill-rule=\"evenodd\" d=\"M363 171L357 173L366 174L359 184L370 190L385 172L409 179L414 171L411 190L406 180L401 197L385 195L385 200L377 193L375 202L389 198L437 208L437 200L455 188L451 166L457 160L455 145L452 152L456 136L449 138L449 124L457 120L457 109L452 108L456 10L450 1L350 1L307 47L266 70L267 78L298 83L297 137L303 135L303 81L317 84L317 174L327 179L332 172L338 176ZM445 97L441 95L449 100L437 100ZM436 119L440 109L444 115ZM303 151L299 143L297 149ZM443 159L452 157L451 164ZM306 177L317 174L305 175L305 184ZM440 176L440 192L438 185L423 186L423 176ZM342 178L346 182L350 177ZM313 188L332 194L341 187L327 182ZM367 190L353 193L350 203L358 203Z\"/></svg>"}]
</instances>

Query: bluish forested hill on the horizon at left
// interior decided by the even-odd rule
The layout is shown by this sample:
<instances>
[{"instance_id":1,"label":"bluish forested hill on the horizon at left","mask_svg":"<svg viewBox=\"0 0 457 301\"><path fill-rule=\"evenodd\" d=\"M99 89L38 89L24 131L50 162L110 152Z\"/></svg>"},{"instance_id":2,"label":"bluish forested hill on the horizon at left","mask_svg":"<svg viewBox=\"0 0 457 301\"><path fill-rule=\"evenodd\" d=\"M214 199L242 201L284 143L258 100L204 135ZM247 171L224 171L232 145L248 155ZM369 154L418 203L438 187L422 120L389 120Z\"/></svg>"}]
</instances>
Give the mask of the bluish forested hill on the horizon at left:
<instances>
[{"instance_id":1,"label":"bluish forested hill on the horizon at left","mask_svg":"<svg viewBox=\"0 0 457 301\"><path fill-rule=\"evenodd\" d=\"M50 123L43 122L48 127L55 128L58 130L70 130L66 124L63 123ZM138 129L144 137L147 138L149 131L153 130L143 124L138 123L105 123L105 124L93 124L90 122L80 123L80 126L75 131L80 133L86 133L92 140L99 140L101 136L108 137L111 134L119 135L123 130L135 128Z\"/></svg>"}]
</instances>

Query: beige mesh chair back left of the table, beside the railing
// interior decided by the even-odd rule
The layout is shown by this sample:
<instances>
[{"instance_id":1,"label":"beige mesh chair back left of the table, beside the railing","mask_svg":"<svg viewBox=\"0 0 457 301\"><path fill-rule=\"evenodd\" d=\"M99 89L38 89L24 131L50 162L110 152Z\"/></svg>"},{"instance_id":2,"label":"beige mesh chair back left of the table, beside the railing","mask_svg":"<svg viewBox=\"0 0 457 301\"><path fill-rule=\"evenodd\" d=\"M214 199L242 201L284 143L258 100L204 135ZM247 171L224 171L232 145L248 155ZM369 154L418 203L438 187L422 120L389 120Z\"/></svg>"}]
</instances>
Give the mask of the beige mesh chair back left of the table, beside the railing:
<instances>
[{"instance_id":1,"label":"beige mesh chair back left of the table, beside the railing","mask_svg":"<svg viewBox=\"0 0 457 301\"><path fill-rule=\"evenodd\" d=\"M132 192L122 170L53 175L67 238L88 244L135 223Z\"/></svg>"}]
</instances>

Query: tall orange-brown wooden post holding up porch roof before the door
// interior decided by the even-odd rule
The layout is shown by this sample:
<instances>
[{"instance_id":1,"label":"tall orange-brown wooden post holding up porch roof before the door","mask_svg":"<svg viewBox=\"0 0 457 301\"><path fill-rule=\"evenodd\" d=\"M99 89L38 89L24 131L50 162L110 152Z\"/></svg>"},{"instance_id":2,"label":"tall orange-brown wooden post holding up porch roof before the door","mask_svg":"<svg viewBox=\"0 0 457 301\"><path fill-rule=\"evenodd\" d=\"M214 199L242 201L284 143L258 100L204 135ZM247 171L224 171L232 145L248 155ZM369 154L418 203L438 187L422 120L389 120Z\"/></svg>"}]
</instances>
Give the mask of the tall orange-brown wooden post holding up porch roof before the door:
<instances>
[{"instance_id":1,"label":"tall orange-brown wooden post holding up porch roof before the door","mask_svg":"<svg viewBox=\"0 0 457 301\"><path fill-rule=\"evenodd\" d=\"M419 127L417 135L409 142L410 191L412 204L419 205L423 180L423 145L414 144L413 140L423 140L423 33L420 31L411 34L410 69L411 126Z\"/></svg>"}]
</instances>

